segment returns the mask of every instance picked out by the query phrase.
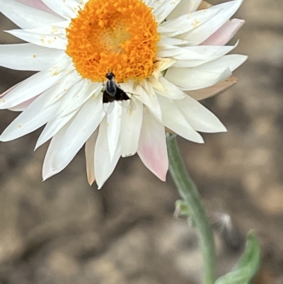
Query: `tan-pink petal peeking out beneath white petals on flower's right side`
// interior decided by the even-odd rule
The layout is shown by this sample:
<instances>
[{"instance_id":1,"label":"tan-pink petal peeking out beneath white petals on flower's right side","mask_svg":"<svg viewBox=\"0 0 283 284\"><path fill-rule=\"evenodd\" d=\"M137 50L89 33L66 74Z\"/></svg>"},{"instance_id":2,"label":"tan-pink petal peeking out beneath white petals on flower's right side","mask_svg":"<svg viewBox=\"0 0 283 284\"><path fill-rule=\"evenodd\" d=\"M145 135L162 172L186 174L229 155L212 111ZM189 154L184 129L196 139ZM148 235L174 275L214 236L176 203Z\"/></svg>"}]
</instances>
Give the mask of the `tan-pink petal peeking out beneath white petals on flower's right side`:
<instances>
[{"instance_id":1,"label":"tan-pink petal peeking out beneath white petals on flower's right side","mask_svg":"<svg viewBox=\"0 0 283 284\"><path fill-rule=\"evenodd\" d=\"M204 98L210 98L212 96L216 96L219 93L226 91L231 86L235 85L237 82L238 82L237 77L232 75L229 78L215 84L214 86L210 86L208 88L199 89L195 91L185 91L185 93L187 93L192 98L195 98L195 100L200 101L204 100Z\"/></svg>"}]
</instances>

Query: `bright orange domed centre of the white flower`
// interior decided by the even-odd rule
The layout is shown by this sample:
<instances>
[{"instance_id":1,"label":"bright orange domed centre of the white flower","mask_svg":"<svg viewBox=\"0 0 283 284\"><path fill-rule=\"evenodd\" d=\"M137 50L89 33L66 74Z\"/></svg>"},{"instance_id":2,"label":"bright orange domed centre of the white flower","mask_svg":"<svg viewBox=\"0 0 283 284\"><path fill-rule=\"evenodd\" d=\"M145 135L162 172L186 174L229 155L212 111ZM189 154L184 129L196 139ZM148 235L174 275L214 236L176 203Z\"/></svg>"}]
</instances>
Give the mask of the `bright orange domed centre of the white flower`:
<instances>
[{"instance_id":1,"label":"bright orange domed centre of the white flower","mask_svg":"<svg viewBox=\"0 0 283 284\"><path fill-rule=\"evenodd\" d=\"M67 28L66 53L83 78L141 81L155 66L157 23L141 0L89 0Z\"/></svg>"}]
</instances>

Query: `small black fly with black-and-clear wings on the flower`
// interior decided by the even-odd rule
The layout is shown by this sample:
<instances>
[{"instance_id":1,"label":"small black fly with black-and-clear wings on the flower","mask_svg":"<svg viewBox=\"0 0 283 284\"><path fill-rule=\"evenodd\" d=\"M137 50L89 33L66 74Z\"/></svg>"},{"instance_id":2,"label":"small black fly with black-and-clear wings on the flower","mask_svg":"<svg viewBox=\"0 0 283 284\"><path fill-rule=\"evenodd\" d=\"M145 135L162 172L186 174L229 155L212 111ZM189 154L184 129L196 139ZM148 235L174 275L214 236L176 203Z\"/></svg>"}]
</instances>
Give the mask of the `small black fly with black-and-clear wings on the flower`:
<instances>
[{"instance_id":1,"label":"small black fly with black-and-clear wings on the flower","mask_svg":"<svg viewBox=\"0 0 283 284\"><path fill-rule=\"evenodd\" d=\"M122 106L129 108L129 105L125 104L124 101L130 100L129 96L125 91L120 89L115 81L115 75L112 72L106 74L108 81L106 82L105 91L103 91L103 110L109 114L112 112L115 101L121 101ZM131 108L134 108L134 103L130 100Z\"/></svg>"}]
</instances>

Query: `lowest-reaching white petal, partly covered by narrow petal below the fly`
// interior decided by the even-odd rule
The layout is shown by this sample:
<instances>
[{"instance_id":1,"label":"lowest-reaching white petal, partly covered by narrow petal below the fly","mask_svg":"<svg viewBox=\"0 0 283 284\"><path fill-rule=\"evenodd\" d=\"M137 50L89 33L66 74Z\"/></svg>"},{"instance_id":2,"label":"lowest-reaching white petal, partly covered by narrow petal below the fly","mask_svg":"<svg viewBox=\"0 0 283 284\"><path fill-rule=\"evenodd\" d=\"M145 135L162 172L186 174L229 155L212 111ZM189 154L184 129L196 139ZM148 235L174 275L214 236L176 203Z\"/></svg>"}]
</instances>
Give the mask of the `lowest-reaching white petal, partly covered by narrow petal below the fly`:
<instances>
[{"instance_id":1,"label":"lowest-reaching white petal, partly covered by narrow petal below the fly","mask_svg":"<svg viewBox=\"0 0 283 284\"><path fill-rule=\"evenodd\" d=\"M100 189L105 181L109 178L115 169L115 166L121 156L121 144L117 145L115 156L110 159L107 137L107 122L106 118L102 120L99 127L98 138L96 140L96 149L94 151L95 166L94 172L96 176L96 183Z\"/></svg>"}]
</instances>

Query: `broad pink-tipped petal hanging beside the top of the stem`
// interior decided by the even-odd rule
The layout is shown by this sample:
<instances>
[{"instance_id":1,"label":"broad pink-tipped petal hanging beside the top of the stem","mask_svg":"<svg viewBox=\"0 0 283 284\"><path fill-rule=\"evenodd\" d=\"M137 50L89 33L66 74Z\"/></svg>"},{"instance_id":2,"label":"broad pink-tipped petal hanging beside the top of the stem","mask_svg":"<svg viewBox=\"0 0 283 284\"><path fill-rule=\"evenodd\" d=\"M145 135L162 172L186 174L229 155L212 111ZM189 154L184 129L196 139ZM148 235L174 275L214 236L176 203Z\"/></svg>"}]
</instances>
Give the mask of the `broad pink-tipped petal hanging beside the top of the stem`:
<instances>
[{"instance_id":1,"label":"broad pink-tipped petal hanging beside the top of the stem","mask_svg":"<svg viewBox=\"0 0 283 284\"><path fill-rule=\"evenodd\" d=\"M161 181L166 181L168 154L165 128L149 113L146 107L144 107L144 119L141 126L137 153L150 171L160 178Z\"/></svg>"}]
</instances>

